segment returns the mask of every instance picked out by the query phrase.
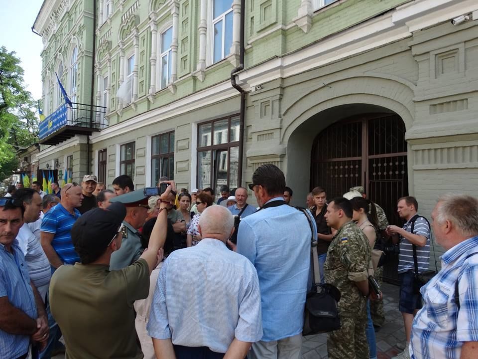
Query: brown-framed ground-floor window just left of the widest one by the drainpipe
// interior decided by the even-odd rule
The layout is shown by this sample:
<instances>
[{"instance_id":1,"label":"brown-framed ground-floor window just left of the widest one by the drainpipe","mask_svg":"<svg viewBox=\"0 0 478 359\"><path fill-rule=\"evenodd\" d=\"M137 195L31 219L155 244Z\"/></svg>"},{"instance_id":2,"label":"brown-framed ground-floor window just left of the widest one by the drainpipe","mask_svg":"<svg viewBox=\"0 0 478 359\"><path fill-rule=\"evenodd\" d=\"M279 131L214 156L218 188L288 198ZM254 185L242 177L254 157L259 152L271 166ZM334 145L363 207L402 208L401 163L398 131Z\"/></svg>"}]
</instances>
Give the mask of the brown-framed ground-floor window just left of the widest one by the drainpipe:
<instances>
[{"instance_id":1,"label":"brown-framed ground-floor window just left of the widest one by the drainpipe","mask_svg":"<svg viewBox=\"0 0 478 359\"><path fill-rule=\"evenodd\" d=\"M151 185L163 176L174 179L174 131L151 138Z\"/></svg>"}]
</instances>

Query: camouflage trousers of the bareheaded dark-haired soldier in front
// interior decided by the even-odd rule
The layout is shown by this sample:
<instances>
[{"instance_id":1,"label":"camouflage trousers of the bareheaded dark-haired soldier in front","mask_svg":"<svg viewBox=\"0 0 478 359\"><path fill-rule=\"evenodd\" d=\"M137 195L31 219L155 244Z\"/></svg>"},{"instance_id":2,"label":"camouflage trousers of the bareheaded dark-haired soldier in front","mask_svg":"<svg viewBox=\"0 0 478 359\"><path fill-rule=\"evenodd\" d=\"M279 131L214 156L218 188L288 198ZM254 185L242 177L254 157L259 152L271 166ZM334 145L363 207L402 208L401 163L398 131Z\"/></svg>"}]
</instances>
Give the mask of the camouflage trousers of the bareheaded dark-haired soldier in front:
<instances>
[{"instance_id":1,"label":"camouflage trousers of the bareheaded dark-haired soldier in front","mask_svg":"<svg viewBox=\"0 0 478 359\"><path fill-rule=\"evenodd\" d=\"M340 318L342 327L327 334L329 359L368 359L367 314Z\"/></svg>"}]
</instances>

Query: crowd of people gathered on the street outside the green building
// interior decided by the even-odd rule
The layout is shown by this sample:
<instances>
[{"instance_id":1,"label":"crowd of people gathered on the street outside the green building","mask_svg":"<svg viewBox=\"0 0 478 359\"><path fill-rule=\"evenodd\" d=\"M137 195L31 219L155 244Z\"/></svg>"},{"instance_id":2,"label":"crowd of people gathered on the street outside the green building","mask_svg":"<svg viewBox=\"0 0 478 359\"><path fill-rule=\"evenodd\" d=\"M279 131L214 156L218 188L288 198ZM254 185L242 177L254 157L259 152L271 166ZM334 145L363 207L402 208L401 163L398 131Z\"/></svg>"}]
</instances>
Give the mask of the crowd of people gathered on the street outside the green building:
<instances>
[{"instance_id":1,"label":"crowd of people gathered on the street outside the green building","mask_svg":"<svg viewBox=\"0 0 478 359\"><path fill-rule=\"evenodd\" d=\"M55 182L51 194L38 182L8 187L0 358L301 358L313 245L321 282L341 294L329 358L375 359L385 317L369 279L380 283L390 255L380 249L392 243L406 338L395 358L476 358L477 198L440 197L431 225L414 197L398 198L397 226L363 187L328 199L317 186L306 199L311 231L272 164L258 167L248 188L222 185L217 200L210 187L160 183L167 187L154 196L125 175L112 189L94 175ZM423 279L433 240L446 252L438 274Z\"/></svg>"}]
</instances>

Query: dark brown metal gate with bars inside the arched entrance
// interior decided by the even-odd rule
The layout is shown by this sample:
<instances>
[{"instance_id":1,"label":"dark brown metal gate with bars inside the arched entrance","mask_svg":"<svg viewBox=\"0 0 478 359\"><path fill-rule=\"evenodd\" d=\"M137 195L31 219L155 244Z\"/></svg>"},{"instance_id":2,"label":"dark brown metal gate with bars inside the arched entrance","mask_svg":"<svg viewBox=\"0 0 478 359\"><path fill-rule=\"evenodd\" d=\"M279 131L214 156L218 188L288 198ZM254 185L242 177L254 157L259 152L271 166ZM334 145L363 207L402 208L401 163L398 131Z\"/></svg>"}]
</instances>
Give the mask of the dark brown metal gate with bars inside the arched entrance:
<instances>
[{"instance_id":1,"label":"dark brown metal gate with bars inside the arched entrance","mask_svg":"<svg viewBox=\"0 0 478 359\"><path fill-rule=\"evenodd\" d=\"M407 143L398 115L364 114L335 123L316 137L311 158L311 188L324 187L331 199L362 185L391 224L402 224L396 201L408 195ZM384 268L386 280L398 279L396 266Z\"/></svg>"}]
</instances>

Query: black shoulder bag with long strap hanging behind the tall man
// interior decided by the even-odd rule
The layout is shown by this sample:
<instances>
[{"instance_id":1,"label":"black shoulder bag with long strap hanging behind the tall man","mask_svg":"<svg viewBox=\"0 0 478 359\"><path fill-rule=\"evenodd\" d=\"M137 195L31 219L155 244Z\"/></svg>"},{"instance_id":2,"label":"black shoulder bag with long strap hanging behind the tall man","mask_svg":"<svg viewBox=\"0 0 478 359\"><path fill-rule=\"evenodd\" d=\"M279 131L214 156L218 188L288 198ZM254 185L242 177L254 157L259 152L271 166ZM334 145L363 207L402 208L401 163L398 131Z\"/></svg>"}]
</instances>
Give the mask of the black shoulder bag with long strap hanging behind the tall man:
<instances>
[{"instance_id":1,"label":"black shoulder bag with long strap hanging behind the tall man","mask_svg":"<svg viewBox=\"0 0 478 359\"><path fill-rule=\"evenodd\" d=\"M302 335L314 335L319 333L332 332L341 328L339 318L340 291L332 284L321 284L320 267L317 254L317 241L314 240L314 226L312 219L304 208L297 208L302 211L312 231L311 238L311 263L314 269L314 285L307 294L304 309L304 327Z\"/></svg>"}]
</instances>

